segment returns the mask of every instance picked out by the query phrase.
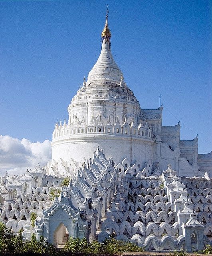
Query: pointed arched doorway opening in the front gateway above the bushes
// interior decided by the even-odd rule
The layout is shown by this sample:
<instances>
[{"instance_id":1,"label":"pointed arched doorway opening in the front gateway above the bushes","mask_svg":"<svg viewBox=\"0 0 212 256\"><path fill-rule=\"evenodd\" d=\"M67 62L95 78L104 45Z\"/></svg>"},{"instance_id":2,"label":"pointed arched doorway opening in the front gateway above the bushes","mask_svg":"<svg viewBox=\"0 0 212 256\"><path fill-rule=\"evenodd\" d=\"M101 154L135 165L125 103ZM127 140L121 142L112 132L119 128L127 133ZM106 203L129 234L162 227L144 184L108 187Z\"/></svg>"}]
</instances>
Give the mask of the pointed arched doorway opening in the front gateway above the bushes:
<instances>
[{"instance_id":1,"label":"pointed arched doorway opening in the front gateway above the bushes","mask_svg":"<svg viewBox=\"0 0 212 256\"><path fill-rule=\"evenodd\" d=\"M69 232L63 223L60 223L54 233L54 245L56 248L64 248L69 239Z\"/></svg>"}]
</instances>

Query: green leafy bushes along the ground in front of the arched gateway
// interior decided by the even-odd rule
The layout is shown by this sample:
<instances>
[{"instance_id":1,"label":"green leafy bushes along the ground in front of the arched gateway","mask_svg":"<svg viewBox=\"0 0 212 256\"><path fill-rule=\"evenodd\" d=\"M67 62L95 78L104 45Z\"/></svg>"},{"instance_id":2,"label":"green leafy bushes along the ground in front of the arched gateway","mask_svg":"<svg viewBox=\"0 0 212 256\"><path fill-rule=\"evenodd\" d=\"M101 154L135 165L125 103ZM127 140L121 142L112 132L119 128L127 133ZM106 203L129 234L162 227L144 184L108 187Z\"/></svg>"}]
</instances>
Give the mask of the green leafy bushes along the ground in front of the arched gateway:
<instances>
[{"instance_id":1,"label":"green leafy bushes along the ground in front of the arched gateway","mask_svg":"<svg viewBox=\"0 0 212 256\"><path fill-rule=\"evenodd\" d=\"M1 256L71 256L74 254L83 254L90 256L97 255L113 255L122 252L144 252L145 248L141 248L136 244L107 239L105 243L93 241L88 243L86 238L72 238L65 244L65 248L58 250L45 241L43 237L40 241L36 240L35 234L28 242L23 241L22 231L18 235L14 235L12 231L6 228L6 225L0 222L0 255Z\"/></svg>"}]
</instances>

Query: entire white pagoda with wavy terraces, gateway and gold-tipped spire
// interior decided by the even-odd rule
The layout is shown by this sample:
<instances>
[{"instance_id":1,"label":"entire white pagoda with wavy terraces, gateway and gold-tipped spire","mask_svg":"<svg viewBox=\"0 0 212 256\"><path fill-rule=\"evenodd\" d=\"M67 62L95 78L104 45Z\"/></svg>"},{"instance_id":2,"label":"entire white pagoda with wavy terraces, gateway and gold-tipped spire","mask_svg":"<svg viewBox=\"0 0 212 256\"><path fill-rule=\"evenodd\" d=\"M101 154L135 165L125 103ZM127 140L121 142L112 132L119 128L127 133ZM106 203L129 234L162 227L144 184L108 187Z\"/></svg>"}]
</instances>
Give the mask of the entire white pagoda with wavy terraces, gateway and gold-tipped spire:
<instances>
[{"instance_id":1,"label":"entire white pagoda with wavy terraces, gateway and gold-tipped spire","mask_svg":"<svg viewBox=\"0 0 212 256\"><path fill-rule=\"evenodd\" d=\"M162 126L162 106L141 109L113 59L107 16L101 38L68 122L55 125L52 161L1 177L1 220L60 248L68 236L113 234L147 249L203 249L212 237L212 153L198 155L197 136L180 140L179 123Z\"/></svg>"}]
</instances>

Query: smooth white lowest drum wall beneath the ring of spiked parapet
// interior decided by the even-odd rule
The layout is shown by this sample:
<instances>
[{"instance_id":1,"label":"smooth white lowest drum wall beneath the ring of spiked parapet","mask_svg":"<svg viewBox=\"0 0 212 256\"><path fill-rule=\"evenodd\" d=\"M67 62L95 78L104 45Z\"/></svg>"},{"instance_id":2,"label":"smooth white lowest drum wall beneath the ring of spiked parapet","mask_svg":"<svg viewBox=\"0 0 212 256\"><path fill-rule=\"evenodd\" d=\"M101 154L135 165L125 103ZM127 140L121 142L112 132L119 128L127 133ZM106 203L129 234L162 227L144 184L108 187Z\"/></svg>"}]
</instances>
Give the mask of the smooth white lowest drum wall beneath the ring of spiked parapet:
<instances>
[{"instance_id":1,"label":"smooth white lowest drum wall beneath the ring of spiked parapet","mask_svg":"<svg viewBox=\"0 0 212 256\"><path fill-rule=\"evenodd\" d=\"M67 136L68 137L68 136ZM68 161L73 158L80 161L83 156L88 159L99 146L103 149L106 158L113 158L118 164L125 157L134 163L136 160L145 164L149 160L156 161L153 154L156 146L152 138L141 138L141 136L126 136L123 134L75 134L63 140L55 139L52 143L52 160L58 161L62 158Z\"/></svg>"}]
</instances>

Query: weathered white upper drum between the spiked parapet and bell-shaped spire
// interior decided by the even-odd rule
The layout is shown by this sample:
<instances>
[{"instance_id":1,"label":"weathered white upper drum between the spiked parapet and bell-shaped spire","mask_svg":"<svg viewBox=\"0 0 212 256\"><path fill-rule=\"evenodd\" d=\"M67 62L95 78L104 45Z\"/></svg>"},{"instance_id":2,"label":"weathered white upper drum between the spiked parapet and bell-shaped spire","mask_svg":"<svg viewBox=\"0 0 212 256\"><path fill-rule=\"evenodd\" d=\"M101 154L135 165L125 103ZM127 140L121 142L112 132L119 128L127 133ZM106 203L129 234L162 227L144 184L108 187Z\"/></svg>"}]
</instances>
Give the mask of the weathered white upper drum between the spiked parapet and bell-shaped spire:
<instances>
[{"instance_id":1,"label":"weathered white upper drum between the spiked parapet and bell-shaped spire","mask_svg":"<svg viewBox=\"0 0 212 256\"><path fill-rule=\"evenodd\" d=\"M107 87L101 86L82 88L81 92L77 92L68 106L71 122L77 116L80 121L84 118L85 122L89 124L91 116L94 118L101 111L103 120L110 116L112 124L115 124L117 116L121 123L124 122L125 117L131 117L131 121L134 118L135 123L140 123L141 108L135 96L123 92L123 88L120 86L114 86L113 84L107 85Z\"/></svg>"}]
</instances>

